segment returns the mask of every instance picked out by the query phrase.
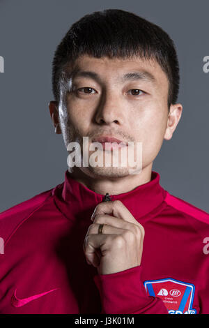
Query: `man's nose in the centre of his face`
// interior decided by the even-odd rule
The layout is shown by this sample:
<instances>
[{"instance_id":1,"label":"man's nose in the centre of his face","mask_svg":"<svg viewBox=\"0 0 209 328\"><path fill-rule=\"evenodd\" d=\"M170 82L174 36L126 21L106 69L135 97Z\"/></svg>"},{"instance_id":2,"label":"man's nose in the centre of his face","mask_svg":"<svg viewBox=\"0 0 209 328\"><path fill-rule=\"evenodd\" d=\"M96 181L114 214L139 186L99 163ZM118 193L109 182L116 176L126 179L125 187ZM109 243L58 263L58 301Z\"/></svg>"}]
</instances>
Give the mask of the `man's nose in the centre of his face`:
<instances>
[{"instance_id":1,"label":"man's nose in the centre of his face","mask_svg":"<svg viewBox=\"0 0 209 328\"><path fill-rule=\"evenodd\" d=\"M105 91L95 113L95 121L98 124L123 125L124 111L123 101L116 95L116 91Z\"/></svg>"}]
</instances>

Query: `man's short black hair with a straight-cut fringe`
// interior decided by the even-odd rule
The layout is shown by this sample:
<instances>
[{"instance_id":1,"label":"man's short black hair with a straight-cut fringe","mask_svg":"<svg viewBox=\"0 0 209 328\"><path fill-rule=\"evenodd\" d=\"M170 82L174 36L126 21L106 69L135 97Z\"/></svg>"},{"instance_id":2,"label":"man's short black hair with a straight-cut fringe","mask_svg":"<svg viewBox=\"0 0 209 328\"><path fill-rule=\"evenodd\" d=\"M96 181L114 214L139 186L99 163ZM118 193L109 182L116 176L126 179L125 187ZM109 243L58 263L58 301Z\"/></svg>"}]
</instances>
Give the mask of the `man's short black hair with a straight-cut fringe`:
<instances>
[{"instance_id":1,"label":"man's short black hair with a straight-cut fringe","mask_svg":"<svg viewBox=\"0 0 209 328\"><path fill-rule=\"evenodd\" d=\"M106 9L87 14L72 24L54 53L52 91L56 101L60 100L61 76L66 66L82 54L110 59L155 59L169 80L168 106L176 103L180 76L175 45L164 30L143 17Z\"/></svg>"}]
</instances>

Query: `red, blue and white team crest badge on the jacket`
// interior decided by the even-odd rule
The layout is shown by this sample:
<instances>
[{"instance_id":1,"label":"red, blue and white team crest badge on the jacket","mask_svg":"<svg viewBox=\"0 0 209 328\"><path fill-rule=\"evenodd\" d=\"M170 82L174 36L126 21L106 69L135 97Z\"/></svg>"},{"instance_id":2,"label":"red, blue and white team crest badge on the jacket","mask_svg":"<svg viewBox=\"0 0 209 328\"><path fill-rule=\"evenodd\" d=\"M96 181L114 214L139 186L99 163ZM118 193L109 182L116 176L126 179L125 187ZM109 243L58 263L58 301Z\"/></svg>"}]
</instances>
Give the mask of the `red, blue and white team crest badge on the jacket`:
<instances>
[{"instance_id":1,"label":"red, blue and white team crest badge on the jacket","mask_svg":"<svg viewBox=\"0 0 209 328\"><path fill-rule=\"evenodd\" d=\"M192 308L195 287L172 278L144 282L149 296L160 297L170 314L195 314Z\"/></svg>"}]
</instances>

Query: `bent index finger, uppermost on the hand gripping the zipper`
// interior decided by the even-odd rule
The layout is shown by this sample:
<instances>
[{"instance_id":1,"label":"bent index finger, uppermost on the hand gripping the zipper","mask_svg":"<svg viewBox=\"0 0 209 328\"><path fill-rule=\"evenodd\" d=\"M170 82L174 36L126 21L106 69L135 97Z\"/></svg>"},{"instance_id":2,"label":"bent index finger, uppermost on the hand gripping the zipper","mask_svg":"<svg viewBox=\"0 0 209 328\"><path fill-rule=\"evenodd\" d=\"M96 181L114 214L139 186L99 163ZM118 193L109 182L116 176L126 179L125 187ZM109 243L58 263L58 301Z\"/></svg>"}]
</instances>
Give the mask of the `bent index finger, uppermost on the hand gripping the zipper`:
<instances>
[{"instance_id":1,"label":"bent index finger, uppermost on the hand gripping the zipper","mask_svg":"<svg viewBox=\"0 0 209 328\"><path fill-rule=\"evenodd\" d=\"M96 214L112 214L113 216L122 218L124 221L140 225L121 200L101 202L95 207L91 218L94 218Z\"/></svg>"}]
</instances>

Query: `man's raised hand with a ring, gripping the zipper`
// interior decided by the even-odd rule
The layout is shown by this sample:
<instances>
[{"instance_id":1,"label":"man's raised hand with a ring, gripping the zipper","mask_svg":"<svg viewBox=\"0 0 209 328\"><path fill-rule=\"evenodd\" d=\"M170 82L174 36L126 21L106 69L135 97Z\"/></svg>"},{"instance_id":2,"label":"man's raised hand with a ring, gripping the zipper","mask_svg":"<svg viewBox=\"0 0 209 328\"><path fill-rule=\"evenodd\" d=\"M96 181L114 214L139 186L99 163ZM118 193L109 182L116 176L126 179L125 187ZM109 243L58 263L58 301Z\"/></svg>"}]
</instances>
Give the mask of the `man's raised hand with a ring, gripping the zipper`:
<instances>
[{"instance_id":1,"label":"man's raised hand with a ring, gripping the zipper","mask_svg":"<svg viewBox=\"0 0 209 328\"><path fill-rule=\"evenodd\" d=\"M144 228L120 200L98 204L91 220L83 248L86 261L98 268L98 274L114 274L141 264ZM102 234L98 234L103 223Z\"/></svg>"}]
</instances>

